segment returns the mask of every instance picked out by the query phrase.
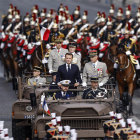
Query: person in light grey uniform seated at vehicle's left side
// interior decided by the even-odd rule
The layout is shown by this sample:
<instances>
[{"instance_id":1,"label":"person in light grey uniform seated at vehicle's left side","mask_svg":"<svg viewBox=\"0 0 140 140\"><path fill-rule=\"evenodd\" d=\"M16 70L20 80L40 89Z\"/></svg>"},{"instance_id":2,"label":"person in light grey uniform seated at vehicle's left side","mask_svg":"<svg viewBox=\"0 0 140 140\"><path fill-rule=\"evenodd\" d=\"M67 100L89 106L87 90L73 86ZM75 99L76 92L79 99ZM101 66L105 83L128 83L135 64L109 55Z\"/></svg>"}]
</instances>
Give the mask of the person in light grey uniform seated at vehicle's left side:
<instances>
[{"instance_id":1,"label":"person in light grey uniform seated at vehicle's left side","mask_svg":"<svg viewBox=\"0 0 140 140\"><path fill-rule=\"evenodd\" d=\"M46 83L46 79L43 77L40 77L41 69L42 68L39 66L34 66L33 78L28 79L28 85L38 85L38 84Z\"/></svg>"}]
</instances>

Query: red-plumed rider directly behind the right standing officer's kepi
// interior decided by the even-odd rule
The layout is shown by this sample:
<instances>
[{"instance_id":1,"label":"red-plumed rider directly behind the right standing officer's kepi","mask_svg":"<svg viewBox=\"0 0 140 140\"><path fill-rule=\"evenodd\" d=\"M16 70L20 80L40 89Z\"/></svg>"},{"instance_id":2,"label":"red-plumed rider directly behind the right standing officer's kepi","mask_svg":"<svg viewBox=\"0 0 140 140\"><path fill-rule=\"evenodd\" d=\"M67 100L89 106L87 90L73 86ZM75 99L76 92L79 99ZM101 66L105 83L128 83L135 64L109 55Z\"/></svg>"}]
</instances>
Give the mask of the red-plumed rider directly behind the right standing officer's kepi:
<instances>
[{"instance_id":1,"label":"red-plumed rider directly behind the right standing officer's kepi","mask_svg":"<svg viewBox=\"0 0 140 140\"><path fill-rule=\"evenodd\" d=\"M111 17L108 17L108 22L107 22L107 28L103 32L103 35L100 39L100 53L99 53L99 61L102 60L104 56L104 52L107 49L107 47L110 45L111 41L114 41L117 39L117 32L112 29L112 19Z\"/></svg>"}]
</instances>

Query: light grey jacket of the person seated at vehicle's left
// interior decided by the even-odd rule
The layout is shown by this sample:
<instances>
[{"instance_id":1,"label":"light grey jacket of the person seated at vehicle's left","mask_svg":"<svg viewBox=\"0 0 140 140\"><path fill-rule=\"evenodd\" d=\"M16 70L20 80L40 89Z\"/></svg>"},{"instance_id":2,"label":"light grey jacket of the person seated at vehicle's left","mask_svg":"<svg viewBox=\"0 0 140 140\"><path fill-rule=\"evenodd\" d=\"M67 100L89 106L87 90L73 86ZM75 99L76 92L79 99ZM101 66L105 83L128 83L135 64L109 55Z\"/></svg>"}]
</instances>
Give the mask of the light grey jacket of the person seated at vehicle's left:
<instances>
[{"instance_id":1,"label":"light grey jacket of the person seated at vehicle's left","mask_svg":"<svg viewBox=\"0 0 140 140\"><path fill-rule=\"evenodd\" d=\"M38 85L38 84L45 84L46 83L46 78L39 77L37 80L35 77L28 79L28 85Z\"/></svg>"}]
</instances>

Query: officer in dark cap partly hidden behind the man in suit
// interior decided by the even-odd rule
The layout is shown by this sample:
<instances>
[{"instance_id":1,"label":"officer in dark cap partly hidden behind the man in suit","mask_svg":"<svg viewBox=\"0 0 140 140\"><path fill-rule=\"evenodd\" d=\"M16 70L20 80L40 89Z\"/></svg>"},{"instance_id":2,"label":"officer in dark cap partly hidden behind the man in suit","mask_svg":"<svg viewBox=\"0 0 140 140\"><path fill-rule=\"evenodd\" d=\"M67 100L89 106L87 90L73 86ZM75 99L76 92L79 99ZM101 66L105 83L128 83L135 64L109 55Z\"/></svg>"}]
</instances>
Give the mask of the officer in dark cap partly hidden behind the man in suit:
<instances>
[{"instance_id":1,"label":"officer in dark cap partly hidden behind the man in suit","mask_svg":"<svg viewBox=\"0 0 140 140\"><path fill-rule=\"evenodd\" d=\"M75 53L76 47L77 44L75 42L70 42L68 45L68 50L73 55L72 64L76 64L79 67L79 70L81 70L81 56Z\"/></svg>"}]
</instances>

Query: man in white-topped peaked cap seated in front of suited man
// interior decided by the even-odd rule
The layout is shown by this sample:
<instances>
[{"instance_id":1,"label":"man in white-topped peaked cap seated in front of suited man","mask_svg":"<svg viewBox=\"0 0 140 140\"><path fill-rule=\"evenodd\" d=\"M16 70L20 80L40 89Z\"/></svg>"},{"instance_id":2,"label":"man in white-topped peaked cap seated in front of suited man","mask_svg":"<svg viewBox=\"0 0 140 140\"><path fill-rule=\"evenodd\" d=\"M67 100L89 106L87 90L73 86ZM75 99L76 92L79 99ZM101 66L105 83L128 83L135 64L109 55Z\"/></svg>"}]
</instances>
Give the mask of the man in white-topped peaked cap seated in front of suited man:
<instances>
[{"instance_id":1,"label":"man in white-topped peaked cap seated in front of suited man","mask_svg":"<svg viewBox=\"0 0 140 140\"><path fill-rule=\"evenodd\" d=\"M68 91L70 83L71 83L70 80L60 81L62 91L54 93L53 94L53 100L57 100L57 99L69 100L70 97L74 97L75 96L74 93Z\"/></svg>"}]
</instances>

